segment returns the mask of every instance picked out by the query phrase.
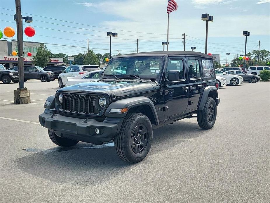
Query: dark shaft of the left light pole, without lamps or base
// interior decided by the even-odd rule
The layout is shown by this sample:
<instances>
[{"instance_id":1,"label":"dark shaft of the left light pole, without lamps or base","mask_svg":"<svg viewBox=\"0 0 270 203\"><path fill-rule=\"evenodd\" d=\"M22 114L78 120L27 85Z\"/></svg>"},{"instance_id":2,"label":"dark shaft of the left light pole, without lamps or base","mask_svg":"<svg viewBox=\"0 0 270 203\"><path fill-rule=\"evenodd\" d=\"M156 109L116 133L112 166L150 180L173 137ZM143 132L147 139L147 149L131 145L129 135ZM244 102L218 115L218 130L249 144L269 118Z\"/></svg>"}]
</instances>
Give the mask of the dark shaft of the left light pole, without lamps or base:
<instances>
[{"instance_id":1,"label":"dark shaft of the left light pole, without lamps or base","mask_svg":"<svg viewBox=\"0 0 270 203\"><path fill-rule=\"evenodd\" d=\"M23 35L22 35L22 13L21 1L15 0L16 16L17 16L17 43L18 43L18 70L19 70L19 88L25 88L24 72L23 72Z\"/></svg>"}]
</instances>

